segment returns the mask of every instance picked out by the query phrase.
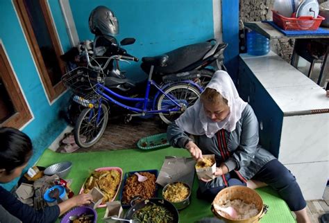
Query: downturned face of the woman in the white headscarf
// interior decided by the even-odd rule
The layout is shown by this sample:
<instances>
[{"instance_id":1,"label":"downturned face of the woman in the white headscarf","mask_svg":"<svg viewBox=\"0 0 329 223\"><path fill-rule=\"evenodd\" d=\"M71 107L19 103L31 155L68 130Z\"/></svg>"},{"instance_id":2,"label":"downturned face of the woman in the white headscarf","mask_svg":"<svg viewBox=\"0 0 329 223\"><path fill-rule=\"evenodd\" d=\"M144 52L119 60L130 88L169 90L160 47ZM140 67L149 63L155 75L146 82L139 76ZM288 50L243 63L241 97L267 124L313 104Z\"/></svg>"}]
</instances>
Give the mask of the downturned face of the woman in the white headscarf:
<instances>
[{"instance_id":1,"label":"downturned face of the woman in the white headscarf","mask_svg":"<svg viewBox=\"0 0 329 223\"><path fill-rule=\"evenodd\" d=\"M214 122L223 121L230 114L228 105L218 105L217 103L203 102L205 115Z\"/></svg>"}]
</instances>

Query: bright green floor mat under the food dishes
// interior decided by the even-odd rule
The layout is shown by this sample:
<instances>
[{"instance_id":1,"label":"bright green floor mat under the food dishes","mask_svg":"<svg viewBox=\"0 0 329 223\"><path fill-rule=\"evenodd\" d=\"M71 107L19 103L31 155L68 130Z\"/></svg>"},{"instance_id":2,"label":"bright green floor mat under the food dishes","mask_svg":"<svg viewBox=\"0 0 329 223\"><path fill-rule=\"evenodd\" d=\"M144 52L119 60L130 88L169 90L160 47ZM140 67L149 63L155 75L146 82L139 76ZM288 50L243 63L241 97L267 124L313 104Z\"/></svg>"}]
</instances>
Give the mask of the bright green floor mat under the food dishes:
<instances>
[{"instance_id":1,"label":"bright green floor mat under the food dishes","mask_svg":"<svg viewBox=\"0 0 329 223\"><path fill-rule=\"evenodd\" d=\"M124 172L134 170L158 169L162 166L166 156L189 157L186 150L177 148L166 148L162 150L115 150L108 152L84 152L73 154L61 154L46 150L37 162L37 166L49 166L60 161L71 161L73 163L71 172L67 179L74 179L71 188L77 194L83 182L95 168L106 166L117 166ZM195 222L203 217L214 217L210 211L210 203L196 198L198 188L197 177L194 177L191 204L179 212L180 222ZM269 206L269 211L260 222L289 223L295 222L287 204L278 198L277 193L269 187L260 188L257 192L262 197L264 204ZM119 196L117 196L118 199ZM98 222L103 222L106 208L97 208Z\"/></svg>"}]
</instances>

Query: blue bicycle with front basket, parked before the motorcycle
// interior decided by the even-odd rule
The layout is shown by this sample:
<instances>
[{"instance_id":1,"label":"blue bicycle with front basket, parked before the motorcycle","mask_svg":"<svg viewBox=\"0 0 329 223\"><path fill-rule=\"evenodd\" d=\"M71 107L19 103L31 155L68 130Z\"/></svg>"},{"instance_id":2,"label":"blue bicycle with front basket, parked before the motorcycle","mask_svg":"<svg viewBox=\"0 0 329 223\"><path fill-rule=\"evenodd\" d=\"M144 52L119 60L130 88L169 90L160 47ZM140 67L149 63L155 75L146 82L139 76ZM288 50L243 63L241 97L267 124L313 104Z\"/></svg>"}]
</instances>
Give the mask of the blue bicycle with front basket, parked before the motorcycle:
<instances>
[{"instance_id":1,"label":"blue bicycle with front basket, parked before the motorcycle","mask_svg":"<svg viewBox=\"0 0 329 223\"><path fill-rule=\"evenodd\" d=\"M106 57L103 66L88 55L85 48L87 67L78 67L62 77L62 82L73 91L74 101L85 107L78 116L74 128L74 139L81 148L89 148L94 145L106 130L110 102L131 111L127 118L133 116L147 116L158 114L164 123L171 123L182 114L187 107L194 104L199 98L202 87L192 80L178 80L158 85L152 80L153 65L149 72L144 98L130 98L121 96L105 86L105 74L103 70L111 60L135 60L136 57L126 55L112 55ZM97 64L92 65L90 58ZM105 57L102 57L105 58ZM89 69L88 67L92 68ZM151 86L157 91L150 96ZM115 99L118 98L118 99ZM122 101L135 102L134 106Z\"/></svg>"}]
</instances>

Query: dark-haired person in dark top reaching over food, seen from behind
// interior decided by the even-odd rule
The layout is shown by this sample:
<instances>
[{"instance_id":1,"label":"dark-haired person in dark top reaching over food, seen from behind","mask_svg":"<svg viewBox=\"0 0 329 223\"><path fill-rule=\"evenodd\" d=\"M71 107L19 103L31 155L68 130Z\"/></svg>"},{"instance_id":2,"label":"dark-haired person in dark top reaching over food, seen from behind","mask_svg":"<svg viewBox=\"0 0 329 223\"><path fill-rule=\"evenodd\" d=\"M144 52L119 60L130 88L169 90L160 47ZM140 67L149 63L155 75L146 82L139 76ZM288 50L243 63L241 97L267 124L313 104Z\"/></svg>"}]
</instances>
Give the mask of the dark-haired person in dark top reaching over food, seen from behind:
<instances>
[{"instance_id":1,"label":"dark-haired person in dark top reaching over food, seen from behind","mask_svg":"<svg viewBox=\"0 0 329 223\"><path fill-rule=\"evenodd\" d=\"M31 139L10 127L0 127L0 183L19 177L33 153ZM90 204L91 195L82 194L56 206L35 211L0 186L0 222L56 222L58 217L74 206Z\"/></svg>"}]
</instances>

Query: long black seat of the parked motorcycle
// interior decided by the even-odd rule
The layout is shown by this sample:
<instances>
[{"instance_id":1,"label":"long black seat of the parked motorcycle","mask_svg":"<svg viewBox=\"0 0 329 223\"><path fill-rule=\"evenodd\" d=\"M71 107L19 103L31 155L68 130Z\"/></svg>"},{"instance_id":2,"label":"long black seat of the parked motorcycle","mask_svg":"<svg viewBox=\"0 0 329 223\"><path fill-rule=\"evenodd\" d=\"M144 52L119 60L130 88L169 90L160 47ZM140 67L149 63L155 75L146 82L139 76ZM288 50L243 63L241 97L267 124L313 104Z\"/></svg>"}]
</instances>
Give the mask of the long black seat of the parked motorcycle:
<instances>
[{"instance_id":1,"label":"long black seat of the parked motorcycle","mask_svg":"<svg viewBox=\"0 0 329 223\"><path fill-rule=\"evenodd\" d=\"M141 67L146 73L149 73L151 65L154 66L155 73L176 73L194 62L202 60L211 48L211 42L183 46L155 57L143 57ZM167 60L165 60L165 55L167 55Z\"/></svg>"}]
</instances>

